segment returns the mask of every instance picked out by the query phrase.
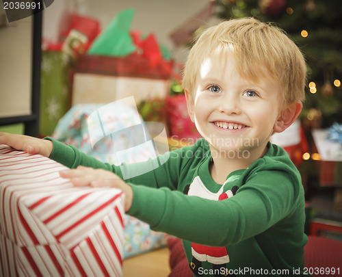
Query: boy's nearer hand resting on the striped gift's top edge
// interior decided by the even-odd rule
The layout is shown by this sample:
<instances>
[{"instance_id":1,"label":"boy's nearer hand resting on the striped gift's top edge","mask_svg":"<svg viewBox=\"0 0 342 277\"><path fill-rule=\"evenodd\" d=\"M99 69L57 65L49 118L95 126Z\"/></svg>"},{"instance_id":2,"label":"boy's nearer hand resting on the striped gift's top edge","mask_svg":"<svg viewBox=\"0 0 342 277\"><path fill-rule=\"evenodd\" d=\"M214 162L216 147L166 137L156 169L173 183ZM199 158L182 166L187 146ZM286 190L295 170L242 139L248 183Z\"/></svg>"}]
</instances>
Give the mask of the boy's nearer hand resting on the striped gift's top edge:
<instances>
[{"instance_id":1,"label":"boy's nearer hand resting on the striped gift's top edge","mask_svg":"<svg viewBox=\"0 0 342 277\"><path fill-rule=\"evenodd\" d=\"M124 193L124 211L131 209L133 190L118 175L103 169L78 166L77 169L60 171L62 178L70 179L75 186L116 187Z\"/></svg>"}]
</instances>

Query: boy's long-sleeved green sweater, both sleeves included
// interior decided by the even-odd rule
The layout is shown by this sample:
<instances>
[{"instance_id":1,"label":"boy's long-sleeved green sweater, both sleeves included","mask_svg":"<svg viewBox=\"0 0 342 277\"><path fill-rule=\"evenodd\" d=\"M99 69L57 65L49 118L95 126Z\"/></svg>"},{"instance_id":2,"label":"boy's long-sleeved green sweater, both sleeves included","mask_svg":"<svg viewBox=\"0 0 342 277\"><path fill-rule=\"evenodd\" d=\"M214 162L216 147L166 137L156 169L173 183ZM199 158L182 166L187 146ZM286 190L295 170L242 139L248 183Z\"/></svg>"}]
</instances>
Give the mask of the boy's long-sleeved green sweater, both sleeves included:
<instances>
[{"instance_id":1,"label":"boy's long-sleeved green sweater, both sleeves included","mask_svg":"<svg viewBox=\"0 0 342 277\"><path fill-rule=\"evenodd\" d=\"M111 170L122 179L142 172L125 179L133 189L128 214L153 230L183 239L189 263L192 243L198 243L226 248L226 268L236 276L302 276L307 237L300 173L285 150L271 143L267 147L267 153L248 168L229 174L223 186L210 176L211 153L203 139L157 160L121 166L53 140L50 158L69 168ZM229 197L232 189L237 192ZM192 196L185 195L187 190ZM228 198L218 200L224 192ZM202 261L201 273L211 276L212 263Z\"/></svg>"}]
</instances>

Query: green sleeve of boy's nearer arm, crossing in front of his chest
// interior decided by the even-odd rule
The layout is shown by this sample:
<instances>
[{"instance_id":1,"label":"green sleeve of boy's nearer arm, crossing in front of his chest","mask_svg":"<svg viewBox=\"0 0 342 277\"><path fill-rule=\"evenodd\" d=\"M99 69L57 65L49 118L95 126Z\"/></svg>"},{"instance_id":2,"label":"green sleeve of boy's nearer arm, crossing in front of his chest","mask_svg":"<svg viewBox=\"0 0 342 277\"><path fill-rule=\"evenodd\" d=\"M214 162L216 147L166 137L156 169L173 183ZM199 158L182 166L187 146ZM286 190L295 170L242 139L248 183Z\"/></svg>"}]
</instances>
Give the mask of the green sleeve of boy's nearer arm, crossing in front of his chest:
<instances>
[{"instance_id":1,"label":"green sleeve of boy's nearer arm, crossing in front of his chest","mask_svg":"<svg viewBox=\"0 0 342 277\"><path fill-rule=\"evenodd\" d=\"M154 230L196 243L226 246L254 237L300 205L304 207L296 183L289 172L264 170L248 179L235 196L220 201L132 185L129 214Z\"/></svg>"}]
</instances>

